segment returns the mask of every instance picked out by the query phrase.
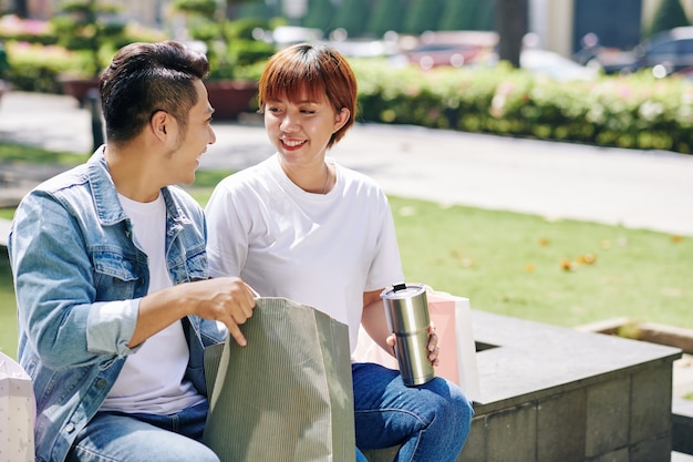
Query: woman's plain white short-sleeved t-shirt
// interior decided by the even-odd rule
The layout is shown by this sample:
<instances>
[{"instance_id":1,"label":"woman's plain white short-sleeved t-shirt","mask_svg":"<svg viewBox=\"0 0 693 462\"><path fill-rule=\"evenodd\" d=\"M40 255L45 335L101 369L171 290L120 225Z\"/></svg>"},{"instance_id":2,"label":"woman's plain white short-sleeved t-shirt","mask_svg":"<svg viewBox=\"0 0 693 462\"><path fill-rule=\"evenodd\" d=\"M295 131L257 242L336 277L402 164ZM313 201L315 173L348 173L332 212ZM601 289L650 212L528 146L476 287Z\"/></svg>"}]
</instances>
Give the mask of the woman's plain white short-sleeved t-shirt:
<instances>
[{"instance_id":1,"label":"woman's plain white short-sleeved t-shirt","mask_svg":"<svg viewBox=\"0 0 693 462\"><path fill-rule=\"evenodd\" d=\"M261 296L310 305L349 326L356 346L363 292L403 280L387 198L335 166L328 194L307 193L278 155L219 183L207 204L209 271L239 276Z\"/></svg>"}]
</instances>

